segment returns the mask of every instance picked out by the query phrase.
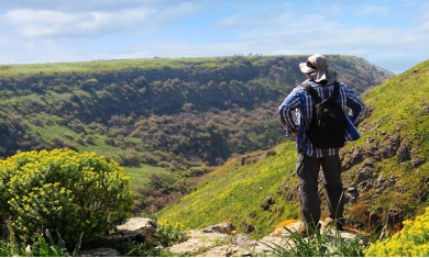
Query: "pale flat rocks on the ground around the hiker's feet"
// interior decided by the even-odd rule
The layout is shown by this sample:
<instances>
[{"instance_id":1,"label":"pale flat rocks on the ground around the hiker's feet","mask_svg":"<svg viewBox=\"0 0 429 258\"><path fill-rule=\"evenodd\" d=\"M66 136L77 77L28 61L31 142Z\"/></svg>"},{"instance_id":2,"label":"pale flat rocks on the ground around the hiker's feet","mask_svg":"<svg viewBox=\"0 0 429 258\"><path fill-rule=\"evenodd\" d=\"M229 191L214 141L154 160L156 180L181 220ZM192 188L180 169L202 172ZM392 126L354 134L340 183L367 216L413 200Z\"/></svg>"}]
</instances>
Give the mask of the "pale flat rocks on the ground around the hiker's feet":
<instances>
[{"instance_id":1,"label":"pale flat rocks on the ground around the hiker's feet","mask_svg":"<svg viewBox=\"0 0 429 258\"><path fill-rule=\"evenodd\" d=\"M337 234L332 227L327 227L321 222L320 232L328 232L332 238ZM301 228L298 221L286 221L277 226L272 234L260 240L252 239L249 235L235 233L232 222L223 222L205 229L189 231L189 239L172 246L168 250L178 256L196 257L265 257L276 255L273 248L292 248L294 242L288 236ZM121 231L121 239L128 242L156 242L156 223L148 218L131 218L124 225L118 227ZM344 229L340 232L342 240L353 240L360 237L360 233ZM110 236L110 238L114 238ZM111 248L98 248L81 250L78 257L118 257L118 250Z\"/></svg>"}]
</instances>

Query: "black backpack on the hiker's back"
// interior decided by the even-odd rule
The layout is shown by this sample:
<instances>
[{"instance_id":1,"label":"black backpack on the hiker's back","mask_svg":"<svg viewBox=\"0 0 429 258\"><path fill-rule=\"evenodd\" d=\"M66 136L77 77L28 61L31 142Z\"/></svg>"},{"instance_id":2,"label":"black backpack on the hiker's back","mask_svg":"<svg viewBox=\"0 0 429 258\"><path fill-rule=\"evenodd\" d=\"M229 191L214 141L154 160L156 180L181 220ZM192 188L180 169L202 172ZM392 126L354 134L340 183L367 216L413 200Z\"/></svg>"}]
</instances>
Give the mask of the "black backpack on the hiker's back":
<instances>
[{"instance_id":1,"label":"black backpack on the hiker's back","mask_svg":"<svg viewBox=\"0 0 429 258\"><path fill-rule=\"evenodd\" d=\"M316 101L316 109L314 109L309 126L311 143L321 149L343 147L345 145L345 117L344 111L337 103L340 83L334 82L332 94L326 100L321 100L309 83L304 82L302 87Z\"/></svg>"}]
</instances>

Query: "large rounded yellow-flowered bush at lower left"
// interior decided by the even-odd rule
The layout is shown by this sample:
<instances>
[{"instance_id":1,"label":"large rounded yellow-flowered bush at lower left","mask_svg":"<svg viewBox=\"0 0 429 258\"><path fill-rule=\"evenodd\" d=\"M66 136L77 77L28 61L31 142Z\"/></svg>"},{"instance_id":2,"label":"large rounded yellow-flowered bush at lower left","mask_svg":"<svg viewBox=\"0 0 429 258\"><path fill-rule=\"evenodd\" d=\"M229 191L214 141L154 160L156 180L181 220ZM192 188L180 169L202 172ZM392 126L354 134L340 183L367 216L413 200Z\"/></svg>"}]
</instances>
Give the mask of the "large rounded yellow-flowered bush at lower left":
<instances>
[{"instance_id":1,"label":"large rounded yellow-flowered bush at lower left","mask_svg":"<svg viewBox=\"0 0 429 258\"><path fill-rule=\"evenodd\" d=\"M130 178L114 161L73 150L21 153L0 161L0 218L28 243L45 229L66 243L97 237L130 215Z\"/></svg>"}]
</instances>

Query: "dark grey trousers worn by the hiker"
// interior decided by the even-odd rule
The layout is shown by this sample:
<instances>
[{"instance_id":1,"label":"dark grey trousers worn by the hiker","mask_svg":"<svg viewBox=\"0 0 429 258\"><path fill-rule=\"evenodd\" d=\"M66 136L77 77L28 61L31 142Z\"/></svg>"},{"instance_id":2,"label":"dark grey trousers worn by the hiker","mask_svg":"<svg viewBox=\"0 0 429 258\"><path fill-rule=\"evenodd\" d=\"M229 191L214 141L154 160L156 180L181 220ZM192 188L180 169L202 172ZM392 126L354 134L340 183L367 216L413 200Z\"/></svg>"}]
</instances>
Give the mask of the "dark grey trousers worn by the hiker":
<instances>
[{"instance_id":1,"label":"dark grey trousers worn by the hiker","mask_svg":"<svg viewBox=\"0 0 429 258\"><path fill-rule=\"evenodd\" d=\"M320 167L323 171L323 184L328 194L329 216L343 220L344 198L341 181L340 156L315 158L298 154L297 173L299 179L299 201L302 207L302 220L315 225L320 221L320 198L318 178Z\"/></svg>"}]
</instances>

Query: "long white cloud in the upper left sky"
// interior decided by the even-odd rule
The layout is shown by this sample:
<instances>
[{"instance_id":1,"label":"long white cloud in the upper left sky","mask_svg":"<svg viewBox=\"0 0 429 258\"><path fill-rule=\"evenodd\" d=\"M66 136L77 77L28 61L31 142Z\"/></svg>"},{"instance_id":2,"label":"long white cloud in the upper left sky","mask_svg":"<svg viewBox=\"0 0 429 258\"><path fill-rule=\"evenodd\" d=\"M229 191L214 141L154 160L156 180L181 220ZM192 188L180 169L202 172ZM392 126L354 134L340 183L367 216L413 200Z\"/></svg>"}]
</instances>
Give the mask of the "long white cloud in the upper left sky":
<instances>
[{"instance_id":1,"label":"long white cloud in the upper left sky","mask_svg":"<svg viewBox=\"0 0 429 258\"><path fill-rule=\"evenodd\" d=\"M95 2L102 3L103 1ZM109 0L107 4L114 2L118 1ZM143 4L155 2L155 0L125 0L124 2ZM165 7L160 9L140 7L114 11L66 12L19 9L0 14L0 23L3 26L13 25L25 37L90 38L110 34L139 35L161 30L163 26L172 26L175 20L190 16L200 10L200 5L193 2L175 1L176 4L172 5L173 2L173 0L161 1L160 3L164 3Z\"/></svg>"}]
</instances>

